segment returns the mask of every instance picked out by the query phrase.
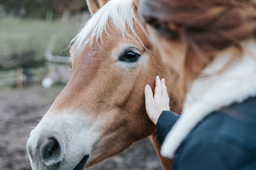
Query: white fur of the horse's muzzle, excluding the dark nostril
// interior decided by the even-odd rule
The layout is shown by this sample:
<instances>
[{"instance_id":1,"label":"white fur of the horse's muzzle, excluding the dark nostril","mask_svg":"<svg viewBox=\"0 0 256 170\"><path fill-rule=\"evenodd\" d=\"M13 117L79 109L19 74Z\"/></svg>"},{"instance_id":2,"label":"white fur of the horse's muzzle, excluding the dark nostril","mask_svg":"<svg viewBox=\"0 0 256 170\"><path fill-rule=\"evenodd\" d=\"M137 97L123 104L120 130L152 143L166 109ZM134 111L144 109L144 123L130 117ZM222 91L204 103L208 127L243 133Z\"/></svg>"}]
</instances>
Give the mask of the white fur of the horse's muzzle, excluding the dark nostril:
<instances>
[{"instance_id":1,"label":"white fur of the horse's muzzle, excluding the dark nostril","mask_svg":"<svg viewBox=\"0 0 256 170\"><path fill-rule=\"evenodd\" d=\"M54 138L60 144L60 169L73 169L83 159L90 155L93 145L100 136L100 120L95 120L92 114L81 111L65 110L48 111L36 128L31 131L27 148L33 169L42 169L41 154L36 148L44 143L44 139ZM33 155L33 158L31 156Z\"/></svg>"}]
</instances>

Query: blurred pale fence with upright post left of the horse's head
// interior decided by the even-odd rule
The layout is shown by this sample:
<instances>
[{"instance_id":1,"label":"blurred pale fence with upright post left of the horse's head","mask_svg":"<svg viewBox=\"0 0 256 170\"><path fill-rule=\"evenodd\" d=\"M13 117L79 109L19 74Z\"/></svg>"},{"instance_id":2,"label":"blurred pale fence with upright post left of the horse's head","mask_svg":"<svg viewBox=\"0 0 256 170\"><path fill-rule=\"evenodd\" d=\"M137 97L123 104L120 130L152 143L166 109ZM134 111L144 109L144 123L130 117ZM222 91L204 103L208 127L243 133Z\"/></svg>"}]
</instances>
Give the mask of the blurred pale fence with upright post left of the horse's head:
<instances>
[{"instance_id":1,"label":"blurred pale fence with upright post left of the horse's head","mask_svg":"<svg viewBox=\"0 0 256 170\"><path fill-rule=\"evenodd\" d=\"M4 86L22 88L22 85L41 82L44 78L50 78L52 82L67 82L71 71L69 57L52 55L52 48L56 37L52 36L45 49L46 66L40 68L22 68L0 71L0 88Z\"/></svg>"}]
</instances>

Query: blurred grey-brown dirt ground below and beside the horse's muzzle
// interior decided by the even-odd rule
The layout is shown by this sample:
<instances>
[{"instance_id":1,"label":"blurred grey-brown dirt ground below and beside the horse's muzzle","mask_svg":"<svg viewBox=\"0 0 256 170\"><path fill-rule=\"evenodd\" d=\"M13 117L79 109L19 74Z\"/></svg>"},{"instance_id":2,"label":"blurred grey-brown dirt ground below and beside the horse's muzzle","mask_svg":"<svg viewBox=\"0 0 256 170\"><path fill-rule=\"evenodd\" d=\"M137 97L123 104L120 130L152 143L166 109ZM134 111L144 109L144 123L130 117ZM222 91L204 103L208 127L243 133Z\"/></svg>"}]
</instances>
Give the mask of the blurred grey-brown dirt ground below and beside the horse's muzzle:
<instances>
[{"instance_id":1,"label":"blurred grey-brown dirt ground below and beside the horse's muzzle","mask_svg":"<svg viewBox=\"0 0 256 170\"><path fill-rule=\"evenodd\" d=\"M45 111L60 92L60 87L0 91L0 169L28 170L26 141ZM161 169L149 139L134 143L124 152L93 169Z\"/></svg>"}]
</instances>

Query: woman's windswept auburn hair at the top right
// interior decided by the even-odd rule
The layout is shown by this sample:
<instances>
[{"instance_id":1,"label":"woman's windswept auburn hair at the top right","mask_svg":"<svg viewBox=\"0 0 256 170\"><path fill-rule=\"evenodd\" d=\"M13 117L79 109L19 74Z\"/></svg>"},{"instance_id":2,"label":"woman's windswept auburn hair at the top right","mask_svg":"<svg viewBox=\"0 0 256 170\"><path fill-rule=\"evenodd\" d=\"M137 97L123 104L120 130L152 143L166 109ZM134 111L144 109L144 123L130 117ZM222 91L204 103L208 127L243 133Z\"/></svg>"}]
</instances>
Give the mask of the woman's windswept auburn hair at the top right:
<instances>
[{"instance_id":1,"label":"woman's windswept auburn hair at the top right","mask_svg":"<svg viewBox=\"0 0 256 170\"><path fill-rule=\"evenodd\" d=\"M256 38L256 0L143 0L140 15L164 38L184 39L182 76L188 81L217 52L230 46L243 52L240 42Z\"/></svg>"}]
</instances>

